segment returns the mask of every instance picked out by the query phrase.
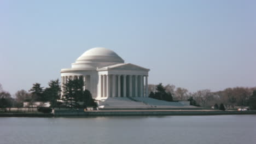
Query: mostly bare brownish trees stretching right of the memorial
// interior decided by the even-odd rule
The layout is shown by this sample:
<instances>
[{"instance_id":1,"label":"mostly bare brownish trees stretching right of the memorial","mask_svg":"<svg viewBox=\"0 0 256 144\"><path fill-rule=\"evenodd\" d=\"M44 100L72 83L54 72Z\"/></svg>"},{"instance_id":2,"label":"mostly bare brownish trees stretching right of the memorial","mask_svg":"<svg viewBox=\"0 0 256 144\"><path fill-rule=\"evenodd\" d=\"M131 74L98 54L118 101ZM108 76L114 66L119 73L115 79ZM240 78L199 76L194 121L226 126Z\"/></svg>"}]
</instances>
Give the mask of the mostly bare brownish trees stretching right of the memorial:
<instances>
[{"instance_id":1,"label":"mostly bare brownish trees stretching right of the memorial","mask_svg":"<svg viewBox=\"0 0 256 144\"><path fill-rule=\"evenodd\" d=\"M248 106L256 109L256 87L226 88L217 92L211 92L210 89L189 92L186 88L176 88L174 85L163 86L159 83L159 85L148 85L148 91L151 98L160 100L168 98L167 101L171 98L172 100L189 100L190 104L195 106L212 107L223 104L228 109Z\"/></svg>"}]
</instances>

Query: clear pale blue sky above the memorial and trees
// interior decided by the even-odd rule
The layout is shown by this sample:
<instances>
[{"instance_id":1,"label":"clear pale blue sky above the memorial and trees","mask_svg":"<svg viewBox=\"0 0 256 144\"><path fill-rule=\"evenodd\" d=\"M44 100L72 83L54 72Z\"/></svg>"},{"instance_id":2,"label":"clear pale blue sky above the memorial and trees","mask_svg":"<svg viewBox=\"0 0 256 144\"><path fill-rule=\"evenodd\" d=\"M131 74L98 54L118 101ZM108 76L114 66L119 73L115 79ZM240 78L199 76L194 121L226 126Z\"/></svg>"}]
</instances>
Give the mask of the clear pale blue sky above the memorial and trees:
<instances>
[{"instance_id":1,"label":"clear pale blue sky above the memorial and trees","mask_svg":"<svg viewBox=\"0 0 256 144\"><path fill-rule=\"evenodd\" d=\"M0 83L14 94L60 79L106 47L191 92L256 86L256 1L0 1Z\"/></svg>"}]
</instances>

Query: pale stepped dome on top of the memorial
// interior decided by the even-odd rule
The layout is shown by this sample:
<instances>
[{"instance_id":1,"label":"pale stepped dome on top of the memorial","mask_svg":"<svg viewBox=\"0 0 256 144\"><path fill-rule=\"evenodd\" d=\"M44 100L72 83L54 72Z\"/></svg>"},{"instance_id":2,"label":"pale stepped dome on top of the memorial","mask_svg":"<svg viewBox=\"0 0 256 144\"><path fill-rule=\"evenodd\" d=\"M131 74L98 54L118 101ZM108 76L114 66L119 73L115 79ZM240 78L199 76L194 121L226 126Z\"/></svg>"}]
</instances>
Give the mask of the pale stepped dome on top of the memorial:
<instances>
[{"instance_id":1,"label":"pale stepped dome on top of the memorial","mask_svg":"<svg viewBox=\"0 0 256 144\"><path fill-rule=\"evenodd\" d=\"M104 47L95 47L78 57L72 68L97 69L118 63L124 63L124 60L117 53Z\"/></svg>"}]
</instances>

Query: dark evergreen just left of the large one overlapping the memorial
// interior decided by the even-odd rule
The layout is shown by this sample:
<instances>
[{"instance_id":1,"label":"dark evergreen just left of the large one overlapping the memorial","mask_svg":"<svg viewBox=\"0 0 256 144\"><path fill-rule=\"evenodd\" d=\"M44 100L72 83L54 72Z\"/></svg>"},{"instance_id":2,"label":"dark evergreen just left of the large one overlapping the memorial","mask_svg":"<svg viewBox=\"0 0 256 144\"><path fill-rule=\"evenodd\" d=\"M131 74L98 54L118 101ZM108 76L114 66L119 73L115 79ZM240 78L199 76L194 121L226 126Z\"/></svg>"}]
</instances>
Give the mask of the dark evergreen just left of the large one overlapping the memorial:
<instances>
[{"instance_id":1,"label":"dark evergreen just left of the large one overlapping the memorial","mask_svg":"<svg viewBox=\"0 0 256 144\"><path fill-rule=\"evenodd\" d=\"M57 106L57 100L60 99L60 82L59 79L48 82L49 87L45 88L43 97L46 101L50 101L51 107Z\"/></svg>"}]
</instances>

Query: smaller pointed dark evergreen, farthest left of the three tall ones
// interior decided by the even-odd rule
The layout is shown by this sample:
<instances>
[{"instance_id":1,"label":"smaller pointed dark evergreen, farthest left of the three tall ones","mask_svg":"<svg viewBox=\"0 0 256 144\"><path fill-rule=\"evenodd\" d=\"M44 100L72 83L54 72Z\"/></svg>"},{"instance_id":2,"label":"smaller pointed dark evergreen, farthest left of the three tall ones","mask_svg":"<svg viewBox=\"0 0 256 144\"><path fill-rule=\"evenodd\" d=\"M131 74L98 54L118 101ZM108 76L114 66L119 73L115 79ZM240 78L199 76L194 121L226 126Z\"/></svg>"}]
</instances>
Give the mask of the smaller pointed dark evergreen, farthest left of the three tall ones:
<instances>
[{"instance_id":1,"label":"smaller pointed dark evergreen, farthest left of the three tall ones","mask_svg":"<svg viewBox=\"0 0 256 144\"><path fill-rule=\"evenodd\" d=\"M40 83L34 83L29 92L32 92L33 101L46 101L43 97L43 87L41 87Z\"/></svg>"}]
</instances>

